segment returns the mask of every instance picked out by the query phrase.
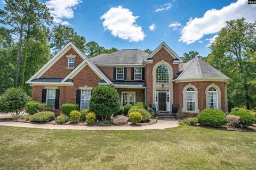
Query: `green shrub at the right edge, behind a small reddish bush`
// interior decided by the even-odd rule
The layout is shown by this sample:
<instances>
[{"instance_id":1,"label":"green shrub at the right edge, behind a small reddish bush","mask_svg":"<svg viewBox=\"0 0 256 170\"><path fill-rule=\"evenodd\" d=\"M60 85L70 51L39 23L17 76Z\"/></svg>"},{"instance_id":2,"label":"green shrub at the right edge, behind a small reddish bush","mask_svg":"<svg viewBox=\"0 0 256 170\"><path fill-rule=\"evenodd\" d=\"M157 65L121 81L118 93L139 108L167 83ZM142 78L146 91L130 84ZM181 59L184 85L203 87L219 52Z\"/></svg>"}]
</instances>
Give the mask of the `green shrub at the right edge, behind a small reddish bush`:
<instances>
[{"instance_id":1,"label":"green shrub at the right edge, behind a small reddish bush","mask_svg":"<svg viewBox=\"0 0 256 170\"><path fill-rule=\"evenodd\" d=\"M239 109L238 111L230 112L229 115L239 116L240 123L243 126L251 126L254 123L254 116L251 111L246 109Z\"/></svg>"}]
</instances>

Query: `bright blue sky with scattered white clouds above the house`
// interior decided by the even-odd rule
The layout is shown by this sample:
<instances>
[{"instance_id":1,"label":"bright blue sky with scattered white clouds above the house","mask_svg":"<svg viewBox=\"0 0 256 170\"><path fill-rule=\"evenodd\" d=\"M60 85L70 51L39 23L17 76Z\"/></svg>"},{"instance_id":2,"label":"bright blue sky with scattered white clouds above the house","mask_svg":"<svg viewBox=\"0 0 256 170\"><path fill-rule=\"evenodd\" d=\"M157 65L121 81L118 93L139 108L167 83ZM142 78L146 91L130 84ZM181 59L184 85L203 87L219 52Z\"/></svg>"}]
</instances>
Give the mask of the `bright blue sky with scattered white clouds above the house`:
<instances>
[{"instance_id":1,"label":"bright blue sky with scattered white clouds above the house","mask_svg":"<svg viewBox=\"0 0 256 170\"><path fill-rule=\"evenodd\" d=\"M209 44L226 21L256 20L256 5L248 5L247 0L40 2L50 8L53 25L72 27L87 42L105 48L154 50L164 41L179 56L191 50L207 56Z\"/></svg>"}]
</instances>

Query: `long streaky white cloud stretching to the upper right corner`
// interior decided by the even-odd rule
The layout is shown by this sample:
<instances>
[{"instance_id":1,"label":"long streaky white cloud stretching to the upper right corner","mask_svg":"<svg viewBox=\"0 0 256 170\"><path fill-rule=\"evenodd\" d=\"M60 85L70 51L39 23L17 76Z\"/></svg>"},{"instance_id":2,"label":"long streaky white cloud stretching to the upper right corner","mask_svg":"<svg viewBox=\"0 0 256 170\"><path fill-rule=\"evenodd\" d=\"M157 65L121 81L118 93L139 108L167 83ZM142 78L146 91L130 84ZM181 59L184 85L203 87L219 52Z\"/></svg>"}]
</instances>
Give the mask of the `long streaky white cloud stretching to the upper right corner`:
<instances>
[{"instance_id":1,"label":"long streaky white cloud stretching to the upper right corner","mask_svg":"<svg viewBox=\"0 0 256 170\"><path fill-rule=\"evenodd\" d=\"M249 22L255 21L256 8L248 5L246 0L238 0L220 10L212 9L204 13L202 18L190 18L181 31L179 41L194 43L204 35L217 33L225 27L226 21L244 17Z\"/></svg>"}]
</instances>

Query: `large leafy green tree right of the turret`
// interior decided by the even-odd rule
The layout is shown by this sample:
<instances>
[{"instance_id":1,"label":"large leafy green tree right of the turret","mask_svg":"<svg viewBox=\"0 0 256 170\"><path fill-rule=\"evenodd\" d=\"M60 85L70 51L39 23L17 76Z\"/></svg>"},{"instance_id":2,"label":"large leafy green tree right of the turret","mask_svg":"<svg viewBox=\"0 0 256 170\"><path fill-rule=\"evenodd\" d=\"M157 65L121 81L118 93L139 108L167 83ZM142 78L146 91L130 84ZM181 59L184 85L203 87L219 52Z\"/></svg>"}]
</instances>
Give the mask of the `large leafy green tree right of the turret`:
<instances>
[{"instance_id":1,"label":"large leafy green tree right of the turret","mask_svg":"<svg viewBox=\"0 0 256 170\"><path fill-rule=\"evenodd\" d=\"M218 37L211 44L211 54L207 61L222 73L231 78L229 83L230 103L235 106L246 106L247 109L256 104L255 78L256 64L252 60L252 52L256 50L256 22L248 23L244 18L227 22Z\"/></svg>"}]
</instances>

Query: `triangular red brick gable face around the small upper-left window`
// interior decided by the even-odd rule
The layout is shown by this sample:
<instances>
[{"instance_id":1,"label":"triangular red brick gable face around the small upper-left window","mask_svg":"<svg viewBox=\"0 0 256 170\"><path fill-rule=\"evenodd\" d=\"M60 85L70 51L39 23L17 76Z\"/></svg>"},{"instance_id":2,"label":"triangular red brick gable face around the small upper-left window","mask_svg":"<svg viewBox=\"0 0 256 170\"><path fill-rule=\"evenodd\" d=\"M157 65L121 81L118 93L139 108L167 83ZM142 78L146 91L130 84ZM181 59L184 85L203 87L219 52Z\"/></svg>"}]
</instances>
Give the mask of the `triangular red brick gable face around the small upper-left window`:
<instances>
[{"instance_id":1,"label":"triangular red brick gable face around the small upper-left window","mask_svg":"<svg viewBox=\"0 0 256 170\"><path fill-rule=\"evenodd\" d=\"M83 58L79 56L73 48L69 49L66 54L60 57L60 59L55 62L50 69L48 69L41 78L65 78L67 75L73 71L73 69L66 69L68 66L68 58L66 55L73 54L75 57L75 67L83 62Z\"/></svg>"}]
</instances>

